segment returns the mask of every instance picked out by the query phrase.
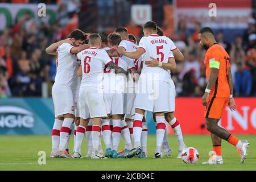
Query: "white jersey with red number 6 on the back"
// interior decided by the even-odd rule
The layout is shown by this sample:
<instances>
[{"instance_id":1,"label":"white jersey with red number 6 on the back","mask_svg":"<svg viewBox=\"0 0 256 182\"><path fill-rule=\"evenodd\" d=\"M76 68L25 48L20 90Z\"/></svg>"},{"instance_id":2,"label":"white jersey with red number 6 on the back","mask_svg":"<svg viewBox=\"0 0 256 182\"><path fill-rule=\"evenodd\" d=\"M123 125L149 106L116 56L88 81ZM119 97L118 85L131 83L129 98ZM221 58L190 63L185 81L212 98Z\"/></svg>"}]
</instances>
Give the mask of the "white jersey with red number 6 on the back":
<instances>
[{"instance_id":1,"label":"white jersey with red number 6 on the back","mask_svg":"<svg viewBox=\"0 0 256 182\"><path fill-rule=\"evenodd\" d=\"M104 49L90 47L77 54L82 65L81 87L92 86L102 88L104 78L104 68L112 62L108 53Z\"/></svg>"}]
</instances>

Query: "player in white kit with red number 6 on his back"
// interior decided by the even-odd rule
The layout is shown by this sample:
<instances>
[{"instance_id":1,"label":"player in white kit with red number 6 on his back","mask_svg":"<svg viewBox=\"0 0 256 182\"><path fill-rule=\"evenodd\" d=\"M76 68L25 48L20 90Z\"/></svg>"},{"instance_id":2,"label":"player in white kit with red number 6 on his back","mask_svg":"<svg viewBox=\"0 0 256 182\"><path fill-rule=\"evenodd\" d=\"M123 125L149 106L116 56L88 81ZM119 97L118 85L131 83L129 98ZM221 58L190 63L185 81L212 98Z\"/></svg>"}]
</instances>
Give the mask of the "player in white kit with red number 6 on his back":
<instances>
[{"instance_id":1,"label":"player in white kit with red number 6 on his back","mask_svg":"<svg viewBox=\"0 0 256 182\"><path fill-rule=\"evenodd\" d=\"M101 37L92 34L89 37L90 48L80 52L77 57L81 60L82 81L79 92L80 116L92 119L92 159L106 159L100 154L101 119L107 116L103 96L104 68L108 65L116 73L127 72L115 65L108 53L101 48ZM89 112L88 112L89 111ZM81 125L81 123L80 123Z\"/></svg>"}]
</instances>

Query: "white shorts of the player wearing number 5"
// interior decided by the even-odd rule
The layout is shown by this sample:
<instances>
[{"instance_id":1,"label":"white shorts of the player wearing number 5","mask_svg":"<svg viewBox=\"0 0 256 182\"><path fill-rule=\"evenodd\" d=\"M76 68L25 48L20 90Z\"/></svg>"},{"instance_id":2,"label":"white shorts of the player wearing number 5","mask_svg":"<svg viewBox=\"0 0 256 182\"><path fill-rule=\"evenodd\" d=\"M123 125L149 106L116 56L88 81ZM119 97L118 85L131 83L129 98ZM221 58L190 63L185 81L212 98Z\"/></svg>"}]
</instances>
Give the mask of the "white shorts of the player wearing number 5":
<instances>
[{"instance_id":1,"label":"white shorts of the player wearing number 5","mask_svg":"<svg viewBox=\"0 0 256 182\"><path fill-rule=\"evenodd\" d=\"M135 108L152 111L153 113L170 110L168 82L148 81L139 82L135 98Z\"/></svg>"}]
</instances>

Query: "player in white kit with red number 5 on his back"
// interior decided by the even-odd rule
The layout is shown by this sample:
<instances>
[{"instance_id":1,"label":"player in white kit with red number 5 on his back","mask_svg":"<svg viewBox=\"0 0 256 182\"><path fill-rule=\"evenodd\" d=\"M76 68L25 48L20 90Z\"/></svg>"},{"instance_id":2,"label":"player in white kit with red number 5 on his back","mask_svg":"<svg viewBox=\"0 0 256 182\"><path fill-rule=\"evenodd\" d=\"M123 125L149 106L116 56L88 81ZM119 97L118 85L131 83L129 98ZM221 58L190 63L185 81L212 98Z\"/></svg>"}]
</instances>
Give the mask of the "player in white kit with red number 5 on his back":
<instances>
[{"instance_id":1,"label":"player in white kit with red number 5 on his back","mask_svg":"<svg viewBox=\"0 0 256 182\"><path fill-rule=\"evenodd\" d=\"M156 23L149 21L143 26L144 37L139 42L139 47L134 52L117 49L118 53L131 59L139 59L144 54L143 60L151 60L156 57L159 67L147 67L143 65L141 76L139 77L139 88L135 98L135 116L133 123L134 149L131 150L126 158L141 154L141 133L142 119L144 111L152 111L156 115L156 150L155 158L161 158L161 146L166 129L164 112L170 110L168 90L168 71L161 68L163 63L168 63L171 45L173 42L166 36L156 34Z\"/></svg>"}]
</instances>

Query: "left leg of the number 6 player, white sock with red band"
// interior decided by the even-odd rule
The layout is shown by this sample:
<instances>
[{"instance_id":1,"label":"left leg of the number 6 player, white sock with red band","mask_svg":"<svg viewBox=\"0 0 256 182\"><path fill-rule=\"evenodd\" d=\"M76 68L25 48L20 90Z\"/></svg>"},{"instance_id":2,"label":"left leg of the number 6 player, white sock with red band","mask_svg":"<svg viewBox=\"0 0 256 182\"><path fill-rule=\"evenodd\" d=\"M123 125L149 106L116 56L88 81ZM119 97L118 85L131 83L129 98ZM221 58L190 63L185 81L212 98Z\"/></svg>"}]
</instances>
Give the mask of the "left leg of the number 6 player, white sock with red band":
<instances>
[{"instance_id":1,"label":"left leg of the number 6 player, white sock with red band","mask_svg":"<svg viewBox=\"0 0 256 182\"><path fill-rule=\"evenodd\" d=\"M74 146L75 152L73 154L73 158L77 158L77 159L82 158L81 156L82 139L84 139L85 130L88 123L89 123L89 118L88 119L80 118L80 123L76 131L76 143Z\"/></svg>"}]
</instances>

